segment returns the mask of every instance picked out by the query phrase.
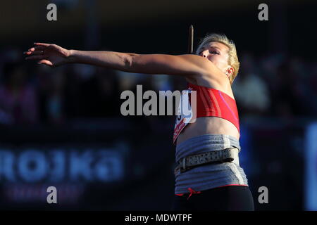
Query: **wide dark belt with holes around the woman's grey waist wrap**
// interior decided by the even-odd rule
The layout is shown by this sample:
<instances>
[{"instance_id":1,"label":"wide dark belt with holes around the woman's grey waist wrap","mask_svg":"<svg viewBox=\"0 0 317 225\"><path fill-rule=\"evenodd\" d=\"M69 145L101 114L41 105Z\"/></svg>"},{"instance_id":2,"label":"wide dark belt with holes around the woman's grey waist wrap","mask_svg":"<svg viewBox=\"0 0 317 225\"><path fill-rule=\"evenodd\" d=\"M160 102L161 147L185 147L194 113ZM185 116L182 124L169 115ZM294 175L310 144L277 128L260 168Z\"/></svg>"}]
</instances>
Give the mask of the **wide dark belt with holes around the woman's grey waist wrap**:
<instances>
[{"instance_id":1,"label":"wide dark belt with holes around the woman's grey waist wrap","mask_svg":"<svg viewBox=\"0 0 317 225\"><path fill-rule=\"evenodd\" d=\"M188 155L178 161L178 166L175 168L174 174L177 174L179 171L185 172L188 169L192 169L193 167L204 165L209 162L232 162L238 157L238 153L238 148L225 148L197 155Z\"/></svg>"}]
</instances>

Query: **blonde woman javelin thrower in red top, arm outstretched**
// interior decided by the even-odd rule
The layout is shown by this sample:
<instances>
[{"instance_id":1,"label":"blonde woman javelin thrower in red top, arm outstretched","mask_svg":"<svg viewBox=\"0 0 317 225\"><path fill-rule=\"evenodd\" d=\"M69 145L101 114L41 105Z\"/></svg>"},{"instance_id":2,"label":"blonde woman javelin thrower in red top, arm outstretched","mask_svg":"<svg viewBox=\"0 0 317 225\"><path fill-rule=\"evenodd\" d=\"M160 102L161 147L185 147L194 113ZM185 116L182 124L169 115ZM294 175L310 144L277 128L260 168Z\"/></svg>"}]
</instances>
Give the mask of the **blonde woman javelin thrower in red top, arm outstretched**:
<instances>
[{"instance_id":1,"label":"blonde woman javelin thrower in red top, arm outstretched","mask_svg":"<svg viewBox=\"0 0 317 225\"><path fill-rule=\"evenodd\" d=\"M150 75L179 75L196 91L195 122L176 120L173 210L254 210L247 177L239 164L240 125L231 85L240 63L233 41L209 34L195 54L178 56L113 51L77 51L35 43L27 60L56 67L85 63ZM180 117L178 117L180 119Z\"/></svg>"}]
</instances>

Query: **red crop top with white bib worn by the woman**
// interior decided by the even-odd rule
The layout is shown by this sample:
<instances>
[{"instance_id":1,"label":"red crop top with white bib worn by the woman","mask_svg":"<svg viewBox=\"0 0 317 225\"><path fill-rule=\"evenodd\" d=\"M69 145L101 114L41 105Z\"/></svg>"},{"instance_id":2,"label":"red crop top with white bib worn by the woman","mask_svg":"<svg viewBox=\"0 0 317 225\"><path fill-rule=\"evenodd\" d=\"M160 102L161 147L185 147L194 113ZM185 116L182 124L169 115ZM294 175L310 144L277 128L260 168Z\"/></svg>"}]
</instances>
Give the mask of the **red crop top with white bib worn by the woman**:
<instances>
[{"instance_id":1,"label":"red crop top with white bib worn by the woman","mask_svg":"<svg viewBox=\"0 0 317 225\"><path fill-rule=\"evenodd\" d=\"M195 94L192 91L196 91ZM196 97L196 99L193 97ZM196 103L192 101L196 101ZM189 113L181 113L184 103L187 103ZM235 99L217 89L188 83L187 90L182 91L178 113L179 115L176 117L174 128L173 143L178 139L178 135L182 132L182 129L189 122L194 122L198 117L223 118L232 122L240 133L239 115Z\"/></svg>"}]
</instances>

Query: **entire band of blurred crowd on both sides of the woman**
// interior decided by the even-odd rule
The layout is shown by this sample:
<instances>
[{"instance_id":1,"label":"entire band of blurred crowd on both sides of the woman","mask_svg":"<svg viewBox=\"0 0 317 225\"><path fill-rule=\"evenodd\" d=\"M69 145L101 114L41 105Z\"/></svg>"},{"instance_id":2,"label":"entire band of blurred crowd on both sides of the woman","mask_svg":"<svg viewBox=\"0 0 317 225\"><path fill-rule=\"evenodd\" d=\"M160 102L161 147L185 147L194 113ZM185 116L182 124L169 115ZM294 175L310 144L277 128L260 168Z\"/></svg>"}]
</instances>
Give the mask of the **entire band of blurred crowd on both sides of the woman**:
<instances>
[{"instance_id":1,"label":"entire band of blurred crowd on both sides of the woman","mask_svg":"<svg viewBox=\"0 0 317 225\"><path fill-rule=\"evenodd\" d=\"M0 124L63 124L77 118L120 117L122 91L182 90L182 77L141 75L89 65L49 68L23 59L23 50L0 51ZM274 54L242 53L232 84L240 116L317 115L317 63ZM136 92L135 92L136 93Z\"/></svg>"}]
</instances>

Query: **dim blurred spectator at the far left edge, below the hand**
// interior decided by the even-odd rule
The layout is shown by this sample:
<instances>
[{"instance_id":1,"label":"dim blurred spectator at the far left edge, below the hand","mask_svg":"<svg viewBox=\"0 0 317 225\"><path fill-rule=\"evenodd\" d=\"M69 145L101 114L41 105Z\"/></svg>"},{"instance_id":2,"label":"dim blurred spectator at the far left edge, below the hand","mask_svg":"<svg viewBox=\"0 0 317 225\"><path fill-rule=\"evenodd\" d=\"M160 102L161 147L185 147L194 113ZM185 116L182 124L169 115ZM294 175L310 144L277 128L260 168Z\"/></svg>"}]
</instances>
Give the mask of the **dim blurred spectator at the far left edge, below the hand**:
<instances>
[{"instance_id":1,"label":"dim blurred spectator at the far left edge, below the hand","mask_svg":"<svg viewBox=\"0 0 317 225\"><path fill-rule=\"evenodd\" d=\"M35 86L27 82L24 63L4 65L0 85L0 122L3 124L34 124L38 122Z\"/></svg>"}]
</instances>

